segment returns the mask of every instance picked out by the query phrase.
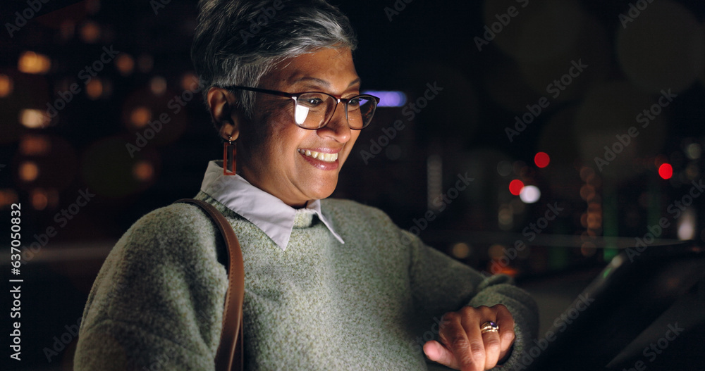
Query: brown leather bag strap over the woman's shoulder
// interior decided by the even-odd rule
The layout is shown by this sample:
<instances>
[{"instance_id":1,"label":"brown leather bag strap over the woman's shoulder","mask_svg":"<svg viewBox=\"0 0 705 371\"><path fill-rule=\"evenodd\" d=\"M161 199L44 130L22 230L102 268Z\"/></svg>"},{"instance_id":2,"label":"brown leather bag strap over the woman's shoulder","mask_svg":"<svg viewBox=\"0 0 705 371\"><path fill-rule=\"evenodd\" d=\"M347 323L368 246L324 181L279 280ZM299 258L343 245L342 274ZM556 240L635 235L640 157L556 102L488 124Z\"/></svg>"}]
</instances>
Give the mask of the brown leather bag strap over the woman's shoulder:
<instances>
[{"instance_id":1,"label":"brown leather bag strap over the woman's shoulder","mask_svg":"<svg viewBox=\"0 0 705 371\"><path fill-rule=\"evenodd\" d=\"M228 248L228 292L223 310L223 331L216 352L216 370L243 370L243 300L245 296L245 270L243 252L233 227L218 209L210 203L196 199L180 199L176 203L200 206L220 229Z\"/></svg>"}]
</instances>

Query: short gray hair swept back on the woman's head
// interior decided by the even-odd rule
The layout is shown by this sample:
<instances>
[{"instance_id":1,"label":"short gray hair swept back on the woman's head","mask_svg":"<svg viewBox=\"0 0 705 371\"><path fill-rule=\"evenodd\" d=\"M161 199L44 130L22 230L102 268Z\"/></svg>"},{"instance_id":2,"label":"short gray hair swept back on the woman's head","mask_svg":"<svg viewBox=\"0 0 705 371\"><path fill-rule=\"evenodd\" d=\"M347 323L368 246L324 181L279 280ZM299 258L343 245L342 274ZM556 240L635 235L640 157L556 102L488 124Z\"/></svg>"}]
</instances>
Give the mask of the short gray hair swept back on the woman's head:
<instances>
[{"instance_id":1,"label":"short gray hair swept back on the woman's head","mask_svg":"<svg viewBox=\"0 0 705 371\"><path fill-rule=\"evenodd\" d=\"M199 7L191 59L204 98L211 87L257 87L285 58L357 46L348 17L325 0L200 0ZM251 118L254 93L235 94Z\"/></svg>"}]
</instances>

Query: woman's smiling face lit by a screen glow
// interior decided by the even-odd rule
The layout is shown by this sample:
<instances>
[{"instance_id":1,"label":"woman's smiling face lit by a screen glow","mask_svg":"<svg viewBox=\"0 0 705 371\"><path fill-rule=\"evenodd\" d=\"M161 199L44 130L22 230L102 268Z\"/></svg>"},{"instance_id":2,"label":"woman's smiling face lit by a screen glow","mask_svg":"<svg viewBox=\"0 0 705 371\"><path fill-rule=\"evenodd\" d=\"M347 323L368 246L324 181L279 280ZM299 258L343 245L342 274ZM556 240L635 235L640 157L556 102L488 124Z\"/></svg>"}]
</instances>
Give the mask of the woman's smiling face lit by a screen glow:
<instances>
[{"instance_id":1,"label":"woman's smiling face lit by a screen glow","mask_svg":"<svg viewBox=\"0 0 705 371\"><path fill-rule=\"evenodd\" d=\"M264 76L259 87L350 98L360 94L360 78L350 49L320 49L282 61ZM333 193L360 131L348 127L343 103L338 104L329 124L318 130L298 127L293 107L292 99L257 94L255 117L247 125L261 125L265 135L248 141L245 130L241 131L238 167L255 187L289 206L302 207Z\"/></svg>"}]
</instances>

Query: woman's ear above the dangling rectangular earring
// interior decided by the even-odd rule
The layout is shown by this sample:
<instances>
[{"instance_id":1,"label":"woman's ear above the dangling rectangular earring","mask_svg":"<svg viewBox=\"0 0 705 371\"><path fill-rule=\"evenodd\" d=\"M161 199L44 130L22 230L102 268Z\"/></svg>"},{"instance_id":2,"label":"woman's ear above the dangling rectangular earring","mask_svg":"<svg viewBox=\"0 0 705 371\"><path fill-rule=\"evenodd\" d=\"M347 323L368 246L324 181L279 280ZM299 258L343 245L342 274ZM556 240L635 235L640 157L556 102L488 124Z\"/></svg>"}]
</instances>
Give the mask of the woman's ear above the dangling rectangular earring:
<instances>
[{"instance_id":1,"label":"woman's ear above the dangling rectangular earring","mask_svg":"<svg viewBox=\"0 0 705 371\"><path fill-rule=\"evenodd\" d=\"M238 139L244 115L235 104L235 95L221 87L212 87L208 90L207 101L211 120L218 128L220 136L226 140L231 137L233 140Z\"/></svg>"}]
</instances>

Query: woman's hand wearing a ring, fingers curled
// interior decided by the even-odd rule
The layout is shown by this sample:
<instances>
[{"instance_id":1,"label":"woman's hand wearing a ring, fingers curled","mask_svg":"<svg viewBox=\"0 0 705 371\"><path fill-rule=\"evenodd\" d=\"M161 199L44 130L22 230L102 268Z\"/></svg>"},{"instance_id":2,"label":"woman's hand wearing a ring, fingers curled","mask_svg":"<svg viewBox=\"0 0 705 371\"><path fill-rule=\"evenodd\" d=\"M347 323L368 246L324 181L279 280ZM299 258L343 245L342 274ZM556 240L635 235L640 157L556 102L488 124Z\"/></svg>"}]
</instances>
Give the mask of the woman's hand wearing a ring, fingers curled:
<instances>
[{"instance_id":1,"label":"woman's hand wearing a ring, fingers curled","mask_svg":"<svg viewBox=\"0 0 705 371\"><path fill-rule=\"evenodd\" d=\"M499 332L481 334L480 325L487 321L496 322ZM443 315L439 339L440 343L431 340L424 344L430 360L455 370L489 370L507 356L514 343L514 318L501 304L465 306Z\"/></svg>"}]
</instances>

